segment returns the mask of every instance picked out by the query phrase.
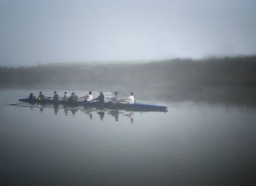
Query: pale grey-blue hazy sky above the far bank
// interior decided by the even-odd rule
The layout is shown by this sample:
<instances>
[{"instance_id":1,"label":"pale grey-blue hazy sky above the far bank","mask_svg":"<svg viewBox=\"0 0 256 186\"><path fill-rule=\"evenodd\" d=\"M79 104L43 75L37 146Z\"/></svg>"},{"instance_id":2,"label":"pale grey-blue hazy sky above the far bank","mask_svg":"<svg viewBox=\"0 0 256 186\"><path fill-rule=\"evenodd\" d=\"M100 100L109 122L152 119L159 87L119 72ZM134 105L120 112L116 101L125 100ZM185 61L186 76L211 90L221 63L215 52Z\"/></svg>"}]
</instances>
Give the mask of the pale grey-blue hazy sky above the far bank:
<instances>
[{"instance_id":1,"label":"pale grey-blue hazy sky above the far bank","mask_svg":"<svg viewBox=\"0 0 256 186\"><path fill-rule=\"evenodd\" d=\"M0 65L256 53L255 0L0 0Z\"/></svg>"}]
</instances>

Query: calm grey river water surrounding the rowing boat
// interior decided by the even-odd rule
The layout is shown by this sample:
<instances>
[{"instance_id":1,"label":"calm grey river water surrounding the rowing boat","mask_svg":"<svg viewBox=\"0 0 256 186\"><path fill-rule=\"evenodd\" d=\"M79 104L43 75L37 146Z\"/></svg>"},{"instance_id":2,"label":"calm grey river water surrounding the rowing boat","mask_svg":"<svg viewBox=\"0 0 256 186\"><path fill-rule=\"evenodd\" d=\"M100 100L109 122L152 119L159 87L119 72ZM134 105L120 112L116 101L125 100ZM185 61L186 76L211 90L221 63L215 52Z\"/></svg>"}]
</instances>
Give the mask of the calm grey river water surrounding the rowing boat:
<instances>
[{"instance_id":1,"label":"calm grey river water surrounding the rowing boat","mask_svg":"<svg viewBox=\"0 0 256 186\"><path fill-rule=\"evenodd\" d=\"M253 106L145 101L168 106L167 113L7 106L31 91L38 92L0 90L0 174L5 185L244 185L253 181Z\"/></svg>"}]
</instances>

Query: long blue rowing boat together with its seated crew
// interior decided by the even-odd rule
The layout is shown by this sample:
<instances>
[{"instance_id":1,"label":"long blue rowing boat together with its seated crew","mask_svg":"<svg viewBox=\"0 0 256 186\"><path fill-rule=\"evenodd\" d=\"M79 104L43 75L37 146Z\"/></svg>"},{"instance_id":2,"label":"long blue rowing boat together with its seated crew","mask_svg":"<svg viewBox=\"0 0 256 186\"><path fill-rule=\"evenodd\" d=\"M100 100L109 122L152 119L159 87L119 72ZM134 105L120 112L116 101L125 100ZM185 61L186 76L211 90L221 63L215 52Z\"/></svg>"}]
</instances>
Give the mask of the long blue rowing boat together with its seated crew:
<instances>
[{"instance_id":1,"label":"long blue rowing boat together with its seated crew","mask_svg":"<svg viewBox=\"0 0 256 186\"><path fill-rule=\"evenodd\" d=\"M161 111L167 112L167 106L159 106L159 105L151 105L151 104L143 104L143 103L135 103L134 94L131 92L129 96L126 98L119 98L118 93L115 92L113 96L110 95L105 98L105 95L102 91L99 92L99 96L94 98L91 91L89 91L88 95L78 97L75 95L75 92L71 93L71 96L65 91L64 96L61 98L57 91L53 91L53 96L48 97L44 96L42 92L39 92L39 96L37 98L33 93L29 94L27 98L21 98L19 101L24 101L30 104L53 104L59 105L64 104L64 106L87 106L94 107L99 109L127 109L127 110L138 110L138 111ZM12 104L15 105L15 104Z\"/></svg>"}]
</instances>

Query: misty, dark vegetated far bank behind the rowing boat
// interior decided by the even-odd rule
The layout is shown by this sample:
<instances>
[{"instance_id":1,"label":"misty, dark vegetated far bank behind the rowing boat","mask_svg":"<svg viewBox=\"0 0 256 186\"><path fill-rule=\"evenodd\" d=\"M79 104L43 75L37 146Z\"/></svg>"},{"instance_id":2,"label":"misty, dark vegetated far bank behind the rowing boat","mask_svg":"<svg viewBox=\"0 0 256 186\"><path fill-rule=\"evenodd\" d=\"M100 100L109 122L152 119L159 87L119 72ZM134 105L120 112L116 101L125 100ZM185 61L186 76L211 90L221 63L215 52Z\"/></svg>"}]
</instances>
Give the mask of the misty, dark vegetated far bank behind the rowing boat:
<instances>
[{"instance_id":1,"label":"misty, dark vegetated far bank behind the rowing boat","mask_svg":"<svg viewBox=\"0 0 256 186\"><path fill-rule=\"evenodd\" d=\"M256 56L171 59L112 65L0 67L1 87L58 85L129 88L256 87Z\"/></svg>"}]
</instances>

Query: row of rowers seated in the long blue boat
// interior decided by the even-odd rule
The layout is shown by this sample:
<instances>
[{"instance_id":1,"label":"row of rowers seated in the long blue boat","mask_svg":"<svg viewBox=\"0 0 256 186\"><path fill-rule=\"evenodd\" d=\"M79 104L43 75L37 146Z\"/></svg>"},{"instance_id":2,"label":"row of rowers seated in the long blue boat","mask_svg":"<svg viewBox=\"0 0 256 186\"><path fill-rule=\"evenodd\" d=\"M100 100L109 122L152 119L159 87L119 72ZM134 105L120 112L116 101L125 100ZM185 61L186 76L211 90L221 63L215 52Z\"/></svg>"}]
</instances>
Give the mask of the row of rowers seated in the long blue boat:
<instances>
[{"instance_id":1,"label":"row of rowers seated in the long blue boat","mask_svg":"<svg viewBox=\"0 0 256 186\"><path fill-rule=\"evenodd\" d=\"M69 95L69 93L64 92L64 96L63 98L59 99L59 94L57 93L57 91L53 92L53 101L59 101L59 100L63 100L63 101L78 101L78 96L75 95L75 93L71 93L71 95ZM50 98L50 97L45 97L42 92L39 92L39 96L37 96L37 98L34 96L33 93L29 94L29 99L39 99L39 100L44 100L46 98ZM94 96L92 96L91 91L89 91L89 93L86 96L82 96L80 98L83 98L83 101L85 102L91 102L91 101L98 101L99 103L104 103L104 94L103 92L99 92L99 96L97 96L97 98L94 98ZM118 103L118 102L127 102L129 104L135 104L135 97L133 96L133 93L130 93L130 96L127 98L122 98L119 99L118 98L118 94L117 92L115 92L115 95L110 98L110 100L113 103Z\"/></svg>"}]
</instances>

